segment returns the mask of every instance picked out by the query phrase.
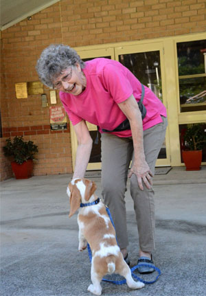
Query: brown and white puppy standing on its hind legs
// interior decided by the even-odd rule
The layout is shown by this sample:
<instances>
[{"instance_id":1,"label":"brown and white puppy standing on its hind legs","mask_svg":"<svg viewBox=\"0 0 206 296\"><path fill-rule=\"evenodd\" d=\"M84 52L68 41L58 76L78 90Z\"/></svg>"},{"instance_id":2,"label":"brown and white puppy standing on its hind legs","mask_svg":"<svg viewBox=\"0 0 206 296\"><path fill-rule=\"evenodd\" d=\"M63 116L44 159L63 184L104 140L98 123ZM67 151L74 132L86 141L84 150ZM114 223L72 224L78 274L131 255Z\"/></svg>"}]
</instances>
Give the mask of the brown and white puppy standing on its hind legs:
<instances>
[{"instance_id":1,"label":"brown and white puppy standing on its hind legs","mask_svg":"<svg viewBox=\"0 0 206 296\"><path fill-rule=\"evenodd\" d=\"M126 278L129 288L143 288L144 284L135 282L131 271L117 245L115 229L106 212L104 203L100 201L95 205L80 207L80 203L92 203L98 196L94 194L96 185L88 179L73 179L67 187L70 198L71 217L79 208L79 251L87 248L87 242L91 247L91 282L88 291L95 295L102 294L100 282L104 275L119 273Z\"/></svg>"}]
</instances>

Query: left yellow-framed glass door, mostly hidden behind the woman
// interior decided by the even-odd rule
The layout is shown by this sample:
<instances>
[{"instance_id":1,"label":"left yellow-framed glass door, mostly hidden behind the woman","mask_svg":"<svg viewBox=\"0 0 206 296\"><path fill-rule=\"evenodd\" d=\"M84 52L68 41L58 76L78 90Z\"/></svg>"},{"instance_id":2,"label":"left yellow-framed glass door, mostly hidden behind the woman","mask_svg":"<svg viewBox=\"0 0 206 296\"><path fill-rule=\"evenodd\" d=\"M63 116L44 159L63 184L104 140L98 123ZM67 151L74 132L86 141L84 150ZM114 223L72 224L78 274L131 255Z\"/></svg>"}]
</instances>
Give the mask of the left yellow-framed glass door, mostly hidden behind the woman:
<instances>
[{"instance_id":1,"label":"left yellow-framed glass door, mostly hidden behind the woman","mask_svg":"<svg viewBox=\"0 0 206 296\"><path fill-rule=\"evenodd\" d=\"M114 48L106 48L106 49L91 49L91 50L77 50L80 58L82 60L91 60L93 58L111 58L115 59ZM94 124L90 124L87 122L87 126L89 128L89 133L91 138L93 139L93 146L91 150L91 157L89 159L89 163L87 166L87 170L100 170L101 169L101 134L98 132L97 126ZM76 160L76 149L78 146L78 141L76 139L76 134L73 130L73 126L70 123L71 130L71 152L72 152L72 165L73 170L75 167Z\"/></svg>"}]
</instances>

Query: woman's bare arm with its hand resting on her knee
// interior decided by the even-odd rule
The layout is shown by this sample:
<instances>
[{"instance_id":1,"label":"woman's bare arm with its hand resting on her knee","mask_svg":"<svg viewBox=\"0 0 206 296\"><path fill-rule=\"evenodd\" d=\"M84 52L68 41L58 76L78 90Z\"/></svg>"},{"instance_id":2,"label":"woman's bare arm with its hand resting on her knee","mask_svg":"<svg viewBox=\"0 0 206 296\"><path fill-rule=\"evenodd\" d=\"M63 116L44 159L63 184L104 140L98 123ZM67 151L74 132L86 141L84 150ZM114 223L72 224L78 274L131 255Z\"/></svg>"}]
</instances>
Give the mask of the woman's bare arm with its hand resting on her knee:
<instances>
[{"instance_id":1,"label":"woman's bare arm with its hand resting on her knee","mask_svg":"<svg viewBox=\"0 0 206 296\"><path fill-rule=\"evenodd\" d=\"M150 189L150 185L152 185L152 172L144 155L143 127L139 106L133 95L130 95L126 101L119 103L118 106L128 118L133 135L134 163L128 177L136 174L139 188L144 190L142 185L142 181L144 181L146 187Z\"/></svg>"}]
</instances>

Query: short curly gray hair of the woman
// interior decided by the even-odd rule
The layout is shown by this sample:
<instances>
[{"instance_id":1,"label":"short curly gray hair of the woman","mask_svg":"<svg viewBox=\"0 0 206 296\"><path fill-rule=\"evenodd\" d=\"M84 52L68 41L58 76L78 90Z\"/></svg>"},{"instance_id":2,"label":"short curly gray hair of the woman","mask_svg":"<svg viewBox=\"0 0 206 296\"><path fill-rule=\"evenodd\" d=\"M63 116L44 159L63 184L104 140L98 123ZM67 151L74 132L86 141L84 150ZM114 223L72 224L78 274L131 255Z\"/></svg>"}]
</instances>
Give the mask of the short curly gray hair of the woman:
<instances>
[{"instance_id":1,"label":"short curly gray hair of the woman","mask_svg":"<svg viewBox=\"0 0 206 296\"><path fill-rule=\"evenodd\" d=\"M43 84L53 87L54 78L58 77L67 67L74 67L76 62L80 64L81 69L84 69L84 62L75 49L67 45L52 44L41 53L36 63L36 71Z\"/></svg>"}]
</instances>

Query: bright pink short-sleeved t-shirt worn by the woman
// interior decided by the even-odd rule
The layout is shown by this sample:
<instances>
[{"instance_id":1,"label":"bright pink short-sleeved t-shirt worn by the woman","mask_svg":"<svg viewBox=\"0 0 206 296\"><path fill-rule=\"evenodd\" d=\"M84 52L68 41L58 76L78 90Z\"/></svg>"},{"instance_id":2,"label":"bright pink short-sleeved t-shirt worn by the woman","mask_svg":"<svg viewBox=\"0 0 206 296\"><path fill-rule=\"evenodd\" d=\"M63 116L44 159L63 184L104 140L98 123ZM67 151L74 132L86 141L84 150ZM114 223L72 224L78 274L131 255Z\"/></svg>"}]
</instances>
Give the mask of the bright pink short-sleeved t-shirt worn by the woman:
<instances>
[{"instance_id":1,"label":"bright pink short-sleeved t-shirt worn by the woman","mask_svg":"<svg viewBox=\"0 0 206 296\"><path fill-rule=\"evenodd\" d=\"M85 64L86 89L80 95L60 91L60 100L73 125L84 119L99 126L100 133L102 128L113 130L126 119L117 104L132 94L138 102L141 99L141 82L116 60L95 58ZM148 87L145 87L143 104L147 110L143 120L144 130L162 122L161 115L166 117L165 106ZM132 135L131 130L113 134L118 137Z\"/></svg>"}]
</instances>

